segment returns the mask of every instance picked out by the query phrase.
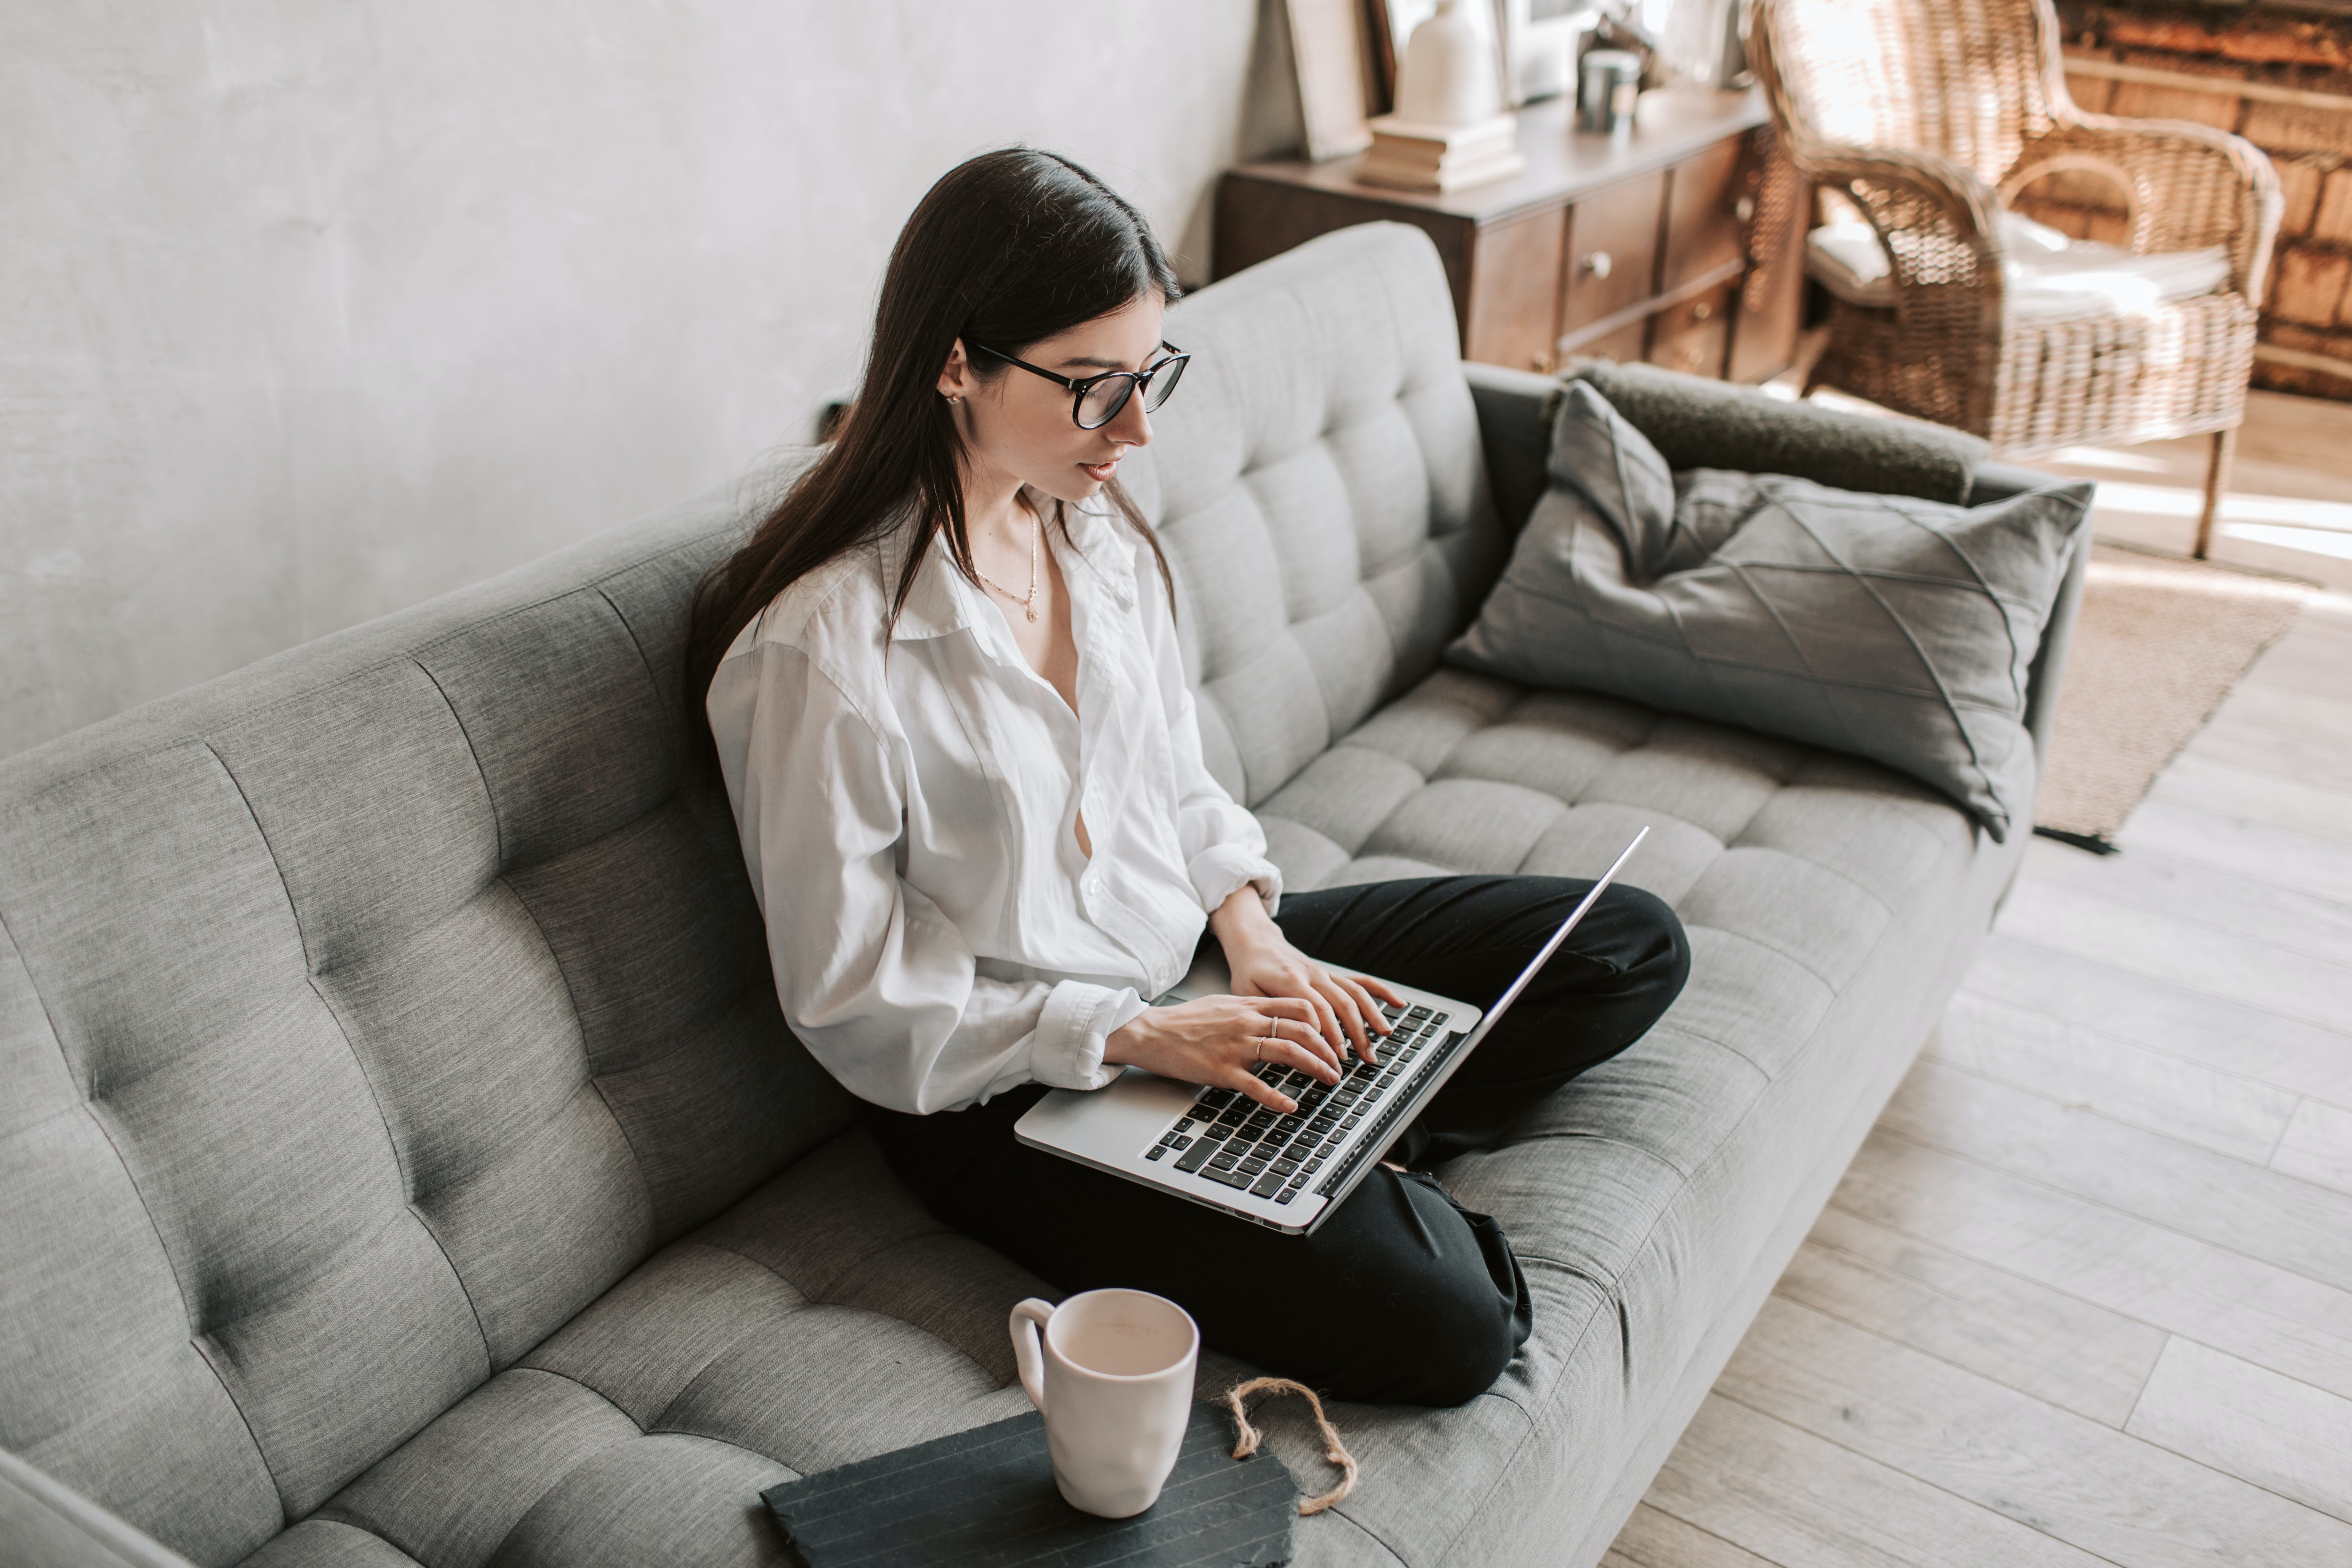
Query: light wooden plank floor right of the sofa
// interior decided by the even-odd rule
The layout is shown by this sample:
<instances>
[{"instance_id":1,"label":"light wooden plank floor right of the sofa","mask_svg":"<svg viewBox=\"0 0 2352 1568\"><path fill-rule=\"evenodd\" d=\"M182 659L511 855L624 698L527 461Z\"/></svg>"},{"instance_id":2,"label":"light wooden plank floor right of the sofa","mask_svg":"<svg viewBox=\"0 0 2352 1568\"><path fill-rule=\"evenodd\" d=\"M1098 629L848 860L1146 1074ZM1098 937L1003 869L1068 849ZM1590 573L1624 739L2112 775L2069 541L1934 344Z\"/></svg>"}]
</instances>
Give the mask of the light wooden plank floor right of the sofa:
<instances>
[{"instance_id":1,"label":"light wooden plank floor right of the sofa","mask_svg":"<svg viewBox=\"0 0 2352 1568\"><path fill-rule=\"evenodd\" d=\"M1994 938L1606 1568L2352 1568L2352 404L2216 555L2326 585ZM2183 550L2201 442L2053 463Z\"/></svg>"}]
</instances>

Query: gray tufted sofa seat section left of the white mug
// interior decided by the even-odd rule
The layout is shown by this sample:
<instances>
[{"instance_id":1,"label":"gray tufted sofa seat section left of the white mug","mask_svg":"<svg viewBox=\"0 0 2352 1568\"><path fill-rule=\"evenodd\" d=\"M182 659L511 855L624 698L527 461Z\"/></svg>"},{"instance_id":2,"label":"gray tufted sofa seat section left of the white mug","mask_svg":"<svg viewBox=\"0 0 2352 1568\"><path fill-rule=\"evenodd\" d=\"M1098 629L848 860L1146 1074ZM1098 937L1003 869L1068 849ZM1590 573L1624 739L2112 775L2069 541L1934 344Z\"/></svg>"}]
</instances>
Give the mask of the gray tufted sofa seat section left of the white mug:
<instances>
[{"instance_id":1,"label":"gray tufted sofa seat section left of the white mug","mask_svg":"<svg viewBox=\"0 0 2352 1568\"><path fill-rule=\"evenodd\" d=\"M1054 1291L849 1131L654 1253L249 1559L786 1561L760 1490L1028 1408L1004 1319ZM1209 1356L1204 1382L1235 1363Z\"/></svg>"}]
</instances>

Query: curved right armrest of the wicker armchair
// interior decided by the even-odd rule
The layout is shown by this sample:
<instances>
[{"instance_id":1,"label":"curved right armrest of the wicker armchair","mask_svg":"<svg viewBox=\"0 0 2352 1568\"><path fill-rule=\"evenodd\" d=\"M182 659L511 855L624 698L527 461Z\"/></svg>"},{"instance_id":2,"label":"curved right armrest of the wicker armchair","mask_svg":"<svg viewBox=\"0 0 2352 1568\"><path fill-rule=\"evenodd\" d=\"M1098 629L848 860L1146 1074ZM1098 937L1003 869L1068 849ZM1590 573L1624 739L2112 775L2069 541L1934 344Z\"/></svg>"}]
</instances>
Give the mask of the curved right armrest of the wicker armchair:
<instances>
[{"instance_id":1,"label":"curved right armrest of the wicker armchair","mask_svg":"<svg viewBox=\"0 0 2352 1568\"><path fill-rule=\"evenodd\" d=\"M2058 169L2107 174L2131 197L2131 249L2194 252L2230 247L2230 273L2249 303L2263 303L2270 242L2286 197L2270 158L2230 132L2190 120L2074 115L2018 153L2002 193Z\"/></svg>"}]
</instances>

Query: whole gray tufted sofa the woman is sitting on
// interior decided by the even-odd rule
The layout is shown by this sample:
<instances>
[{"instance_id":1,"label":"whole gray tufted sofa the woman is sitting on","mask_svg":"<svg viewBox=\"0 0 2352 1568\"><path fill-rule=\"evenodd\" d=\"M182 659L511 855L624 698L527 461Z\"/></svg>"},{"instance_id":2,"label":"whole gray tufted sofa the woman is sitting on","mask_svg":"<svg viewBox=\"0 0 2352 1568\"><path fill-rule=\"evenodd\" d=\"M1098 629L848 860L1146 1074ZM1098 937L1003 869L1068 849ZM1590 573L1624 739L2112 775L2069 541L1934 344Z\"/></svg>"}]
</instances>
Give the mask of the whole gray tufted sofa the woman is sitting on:
<instances>
[{"instance_id":1,"label":"whole gray tufted sofa the woman is sitting on","mask_svg":"<svg viewBox=\"0 0 2352 1568\"><path fill-rule=\"evenodd\" d=\"M1169 336L1195 369L1131 482L1291 886L1592 872L1649 823L1637 879L1691 931L1649 1039L1444 1171L1526 1262L1526 1352L1458 1410L1338 1408L1364 1483L1298 1533L1303 1563L1592 1563L2023 842L1849 757L1439 663L1550 383L1465 378L1418 230L1317 240ZM1004 1314L1049 1286L922 1213L790 1039L682 766L687 592L743 510L0 764L0 1561L771 1561L762 1486L1025 1408ZM1211 1347L1204 1387L1235 1373Z\"/></svg>"}]
</instances>

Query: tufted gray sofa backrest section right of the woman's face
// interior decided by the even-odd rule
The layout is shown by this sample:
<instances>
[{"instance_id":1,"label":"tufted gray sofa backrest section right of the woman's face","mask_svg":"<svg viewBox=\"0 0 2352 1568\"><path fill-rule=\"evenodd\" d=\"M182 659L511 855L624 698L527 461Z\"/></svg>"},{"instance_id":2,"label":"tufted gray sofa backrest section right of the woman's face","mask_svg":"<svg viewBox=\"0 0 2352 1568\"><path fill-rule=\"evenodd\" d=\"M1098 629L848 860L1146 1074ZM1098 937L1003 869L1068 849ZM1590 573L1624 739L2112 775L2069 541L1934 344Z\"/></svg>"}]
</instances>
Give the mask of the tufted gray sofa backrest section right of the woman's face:
<instances>
[{"instance_id":1,"label":"tufted gray sofa backrest section right of the woman's face","mask_svg":"<svg viewBox=\"0 0 2352 1568\"><path fill-rule=\"evenodd\" d=\"M1503 569L1444 266L1364 223L1169 313L1129 484L1178 585L1209 766L1258 804L1418 682Z\"/></svg>"}]
</instances>

